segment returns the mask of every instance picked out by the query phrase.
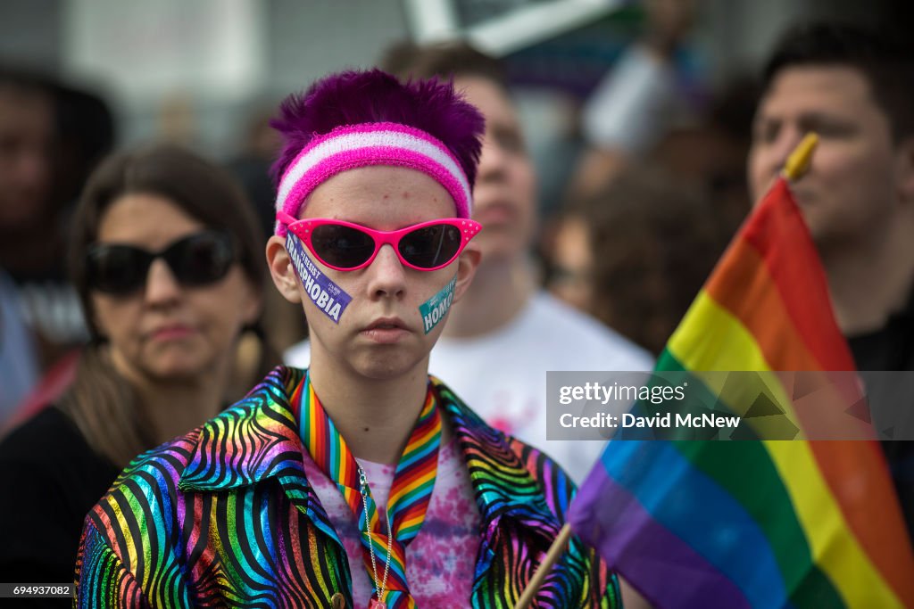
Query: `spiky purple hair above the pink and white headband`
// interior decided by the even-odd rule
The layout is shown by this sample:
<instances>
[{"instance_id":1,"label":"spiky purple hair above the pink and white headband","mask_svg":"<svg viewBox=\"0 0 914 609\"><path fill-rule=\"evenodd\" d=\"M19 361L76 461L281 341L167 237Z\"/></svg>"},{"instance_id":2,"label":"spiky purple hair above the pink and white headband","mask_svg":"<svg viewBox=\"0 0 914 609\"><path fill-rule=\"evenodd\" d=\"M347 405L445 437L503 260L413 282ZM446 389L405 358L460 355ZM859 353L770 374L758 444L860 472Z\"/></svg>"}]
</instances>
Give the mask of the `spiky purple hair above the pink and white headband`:
<instances>
[{"instance_id":1,"label":"spiky purple hair above the pink and white headband","mask_svg":"<svg viewBox=\"0 0 914 609\"><path fill-rule=\"evenodd\" d=\"M396 122L440 140L460 163L470 187L482 149L484 119L451 82L400 82L379 69L338 72L282 101L271 126L282 135L282 152L272 173L277 183L289 164L315 137L344 125Z\"/></svg>"}]
</instances>

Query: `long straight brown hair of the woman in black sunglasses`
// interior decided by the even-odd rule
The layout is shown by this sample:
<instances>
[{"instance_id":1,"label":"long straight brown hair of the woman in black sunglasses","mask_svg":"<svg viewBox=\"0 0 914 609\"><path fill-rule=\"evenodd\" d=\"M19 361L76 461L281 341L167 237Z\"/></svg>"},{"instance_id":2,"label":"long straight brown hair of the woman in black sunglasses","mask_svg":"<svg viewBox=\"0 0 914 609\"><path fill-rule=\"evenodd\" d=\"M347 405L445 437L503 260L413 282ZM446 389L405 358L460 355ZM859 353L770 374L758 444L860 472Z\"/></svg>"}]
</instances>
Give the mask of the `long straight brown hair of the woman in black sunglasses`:
<instances>
[{"instance_id":1,"label":"long straight brown hair of the woman in black sunglasses","mask_svg":"<svg viewBox=\"0 0 914 609\"><path fill-rule=\"evenodd\" d=\"M133 388L110 361L106 338L95 321L83 261L108 208L124 194L137 193L163 196L204 225L234 236L239 265L251 285L262 289L266 281L262 236L253 207L217 165L172 145L154 145L113 154L92 173L72 218L69 244L70 280L80 296L91 339L60 406L90 446L121 467L151 448L152 440L141 431L148 427ZM264 341L260 320L246 330L260 338L258 372L265 373L279 357Z\"/></svg>"}]
</instances>

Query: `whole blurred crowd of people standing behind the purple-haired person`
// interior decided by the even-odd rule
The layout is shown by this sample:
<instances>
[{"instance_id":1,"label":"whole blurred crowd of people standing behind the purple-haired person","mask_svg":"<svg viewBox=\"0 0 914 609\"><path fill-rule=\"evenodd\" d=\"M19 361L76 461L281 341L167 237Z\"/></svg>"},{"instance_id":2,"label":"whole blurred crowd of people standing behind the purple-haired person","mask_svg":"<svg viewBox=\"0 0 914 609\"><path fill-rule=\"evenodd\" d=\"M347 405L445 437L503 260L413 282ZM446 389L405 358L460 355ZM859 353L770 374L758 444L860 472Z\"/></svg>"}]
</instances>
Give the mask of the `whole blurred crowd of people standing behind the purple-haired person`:
<instances>
[{"instance_id":1,"label":"whole blurred crowd of people standing behind the purple-haired person","mask_svg":"<svg viewBox=\"0 0 914 609\"><path fill-rule=\"evenodd\" d=\"M464 43L401 42L376 58L403 79L454 79L486 119L473 215L483 259L430 373L578 482L601 446L547 440L545 373L650 370L805 131L822 143L797 196L857 366L914 366L910 49L862 27L796 26L762 74L696 104L676 63L696 6L647 6L642 37L580 100L577 163L549 205L527 146L537 126L522 123L503 63ZM308 365L301 308L263 283L274 112L251 118L223 167L165 133L122 150L99 94L0 68L0 465L22 488L69 493L69 519L48 533L64 560L10 542L7 574L17 564L68 581L82 516L134 455L200 425L272 365ZM137 328L143 308L186 310L187 327ZM145 342L191 326L205 329L199 352ZM42 437L82 457L27 462ZM887 448L910 527L909 452ZM5 526L22 505L0 503Z\"/></svg>"}]
</instances>

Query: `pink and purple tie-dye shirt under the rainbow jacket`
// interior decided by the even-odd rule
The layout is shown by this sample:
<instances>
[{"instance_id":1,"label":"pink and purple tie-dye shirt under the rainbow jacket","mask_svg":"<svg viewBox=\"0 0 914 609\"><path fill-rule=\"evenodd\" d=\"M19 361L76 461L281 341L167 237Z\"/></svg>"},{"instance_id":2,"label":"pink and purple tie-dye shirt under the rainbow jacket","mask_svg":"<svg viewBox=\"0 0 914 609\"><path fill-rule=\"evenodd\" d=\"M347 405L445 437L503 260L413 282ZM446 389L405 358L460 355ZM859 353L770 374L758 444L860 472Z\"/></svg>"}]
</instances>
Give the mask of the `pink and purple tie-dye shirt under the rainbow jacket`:
<instances>
[{"instance_id":1,"label":"pink and purple tie-dye shirt under the rainbow jacket","mask_svg":"<svg viewBox=\"0 0 914 609\"><path fill-rule=\"evenodd\" d=\"M371 496L386 518L394 466L356 459L368 478ZM352 573L356 607L367 607L374 592L362 562L362 543L356 518L345 505L336 485L304 453L304 471L327 516L343 541ZM387 522L383 520L382 522ZM386 525L382 525L385 527ZM473 569L480 542L479 509L460 450L452 440L441 447L438 477L429 510L419 534L407 547L409 592L420 607L466 607L473 589ZM378 580L384 576L384 555L375 556Z\"/></svg>"}]
</instances>

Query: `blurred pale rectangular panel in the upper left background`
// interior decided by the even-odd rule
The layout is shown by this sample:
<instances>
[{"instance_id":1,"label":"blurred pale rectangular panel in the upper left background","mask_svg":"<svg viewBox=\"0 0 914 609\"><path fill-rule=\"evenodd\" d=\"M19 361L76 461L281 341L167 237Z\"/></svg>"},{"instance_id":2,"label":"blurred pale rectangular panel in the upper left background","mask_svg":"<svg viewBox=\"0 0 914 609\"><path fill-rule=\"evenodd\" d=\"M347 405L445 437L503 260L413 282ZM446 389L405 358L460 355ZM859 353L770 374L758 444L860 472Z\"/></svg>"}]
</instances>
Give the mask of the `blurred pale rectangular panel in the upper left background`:
<instances>
[{"instance_id":1,"label":"blurred pale rectangular panel in the upper left background","mask_svg":"<svg viewBox=\"0 0 914 609\"><path fill-rule=\"evenodd\" d=\"M259 0L69 0L63 67L129 104L183 92L243 99L260 89L267 50Z\"/></svg>"}]
</instances>

